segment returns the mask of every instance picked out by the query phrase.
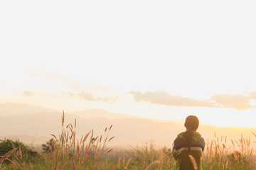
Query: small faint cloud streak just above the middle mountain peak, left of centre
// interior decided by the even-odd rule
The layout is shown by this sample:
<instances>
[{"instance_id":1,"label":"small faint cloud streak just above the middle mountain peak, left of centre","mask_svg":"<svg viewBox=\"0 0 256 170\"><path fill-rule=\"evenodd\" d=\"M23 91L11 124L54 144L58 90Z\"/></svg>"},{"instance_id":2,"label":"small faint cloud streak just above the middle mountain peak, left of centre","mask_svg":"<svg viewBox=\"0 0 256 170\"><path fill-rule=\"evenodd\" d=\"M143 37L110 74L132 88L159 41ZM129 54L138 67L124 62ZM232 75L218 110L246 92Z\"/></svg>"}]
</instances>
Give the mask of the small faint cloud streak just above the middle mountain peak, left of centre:
<instances>
[{"instance_id":1,"label":"small faint cloud streak just above the middle mountain peak, left of centre","mask_svg":"<svg viewBox=\"0 0 256 170\"><path fill-rule=\"evenodd\" d=\"M115 96L114 98L110 98L107 96L103 97L97 97L91 92L86 92L86 91L81 91L80 93L76 94L71 91L63 91L64 95L68 95L71 97L78 96L79 98L82 98L85 101L102 101L102 102L107 102L107 103L114 103L117 102L118 97Z\"/></svg>"}]
</instances>

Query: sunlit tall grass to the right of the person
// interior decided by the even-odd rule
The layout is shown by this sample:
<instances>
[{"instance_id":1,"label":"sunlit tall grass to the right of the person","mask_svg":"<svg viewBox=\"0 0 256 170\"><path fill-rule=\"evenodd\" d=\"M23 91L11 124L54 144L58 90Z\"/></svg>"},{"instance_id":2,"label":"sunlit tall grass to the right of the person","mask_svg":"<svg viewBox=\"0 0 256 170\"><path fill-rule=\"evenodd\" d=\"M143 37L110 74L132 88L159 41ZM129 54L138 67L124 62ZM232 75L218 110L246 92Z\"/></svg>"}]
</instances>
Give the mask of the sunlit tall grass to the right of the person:
<instances>
[{"instance_id":1,"label":"sunlit tall grass to the right of the person","mask_svg":"<svg viewBox=\"0 0 256 170\"><path fill-rule=\"evenodd\" d=\"M239 140L216 137L206 142L203 152L203 169L255 169L254 150L250 148L250 138L242 137Z\"/></svg>"}]
</instances>

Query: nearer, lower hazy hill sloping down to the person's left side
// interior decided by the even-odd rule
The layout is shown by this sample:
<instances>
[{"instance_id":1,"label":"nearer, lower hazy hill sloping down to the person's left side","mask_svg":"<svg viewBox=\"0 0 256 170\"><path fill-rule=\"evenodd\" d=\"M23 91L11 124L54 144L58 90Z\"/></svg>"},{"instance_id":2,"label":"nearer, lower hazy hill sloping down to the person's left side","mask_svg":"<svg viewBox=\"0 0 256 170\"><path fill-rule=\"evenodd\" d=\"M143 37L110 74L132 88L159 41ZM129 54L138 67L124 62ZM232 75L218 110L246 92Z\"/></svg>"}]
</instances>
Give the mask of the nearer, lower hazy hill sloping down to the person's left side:
<instances>
[{"instance_id":1,"label":"nearer, lower hazy hill sloping down to the person's left side","mask_svg":"<svg viewBox=\"0 0 256 170\"><path fill-rule=\"evenodd\" d=\"M0 119L0 134L4 135L31 135L34 137L50 137L50 134L58 135L61 132L60 113L37 113L11 115ZM174 123L156 123L149 119L122 118L109 120L107 118L80 118L76 115L66 114L65 125L73 123L77 119L77 135L85 135L94 130L95 135L104 135L105 128L113 125L110 135L116 136L113 145L136 145L155 139L157 143L164 145L171 141L171 134L182 129ZM169 134L169 135L166 135ZM174 134L173 134L174 135Z\"/></svg>"}]
</instances>

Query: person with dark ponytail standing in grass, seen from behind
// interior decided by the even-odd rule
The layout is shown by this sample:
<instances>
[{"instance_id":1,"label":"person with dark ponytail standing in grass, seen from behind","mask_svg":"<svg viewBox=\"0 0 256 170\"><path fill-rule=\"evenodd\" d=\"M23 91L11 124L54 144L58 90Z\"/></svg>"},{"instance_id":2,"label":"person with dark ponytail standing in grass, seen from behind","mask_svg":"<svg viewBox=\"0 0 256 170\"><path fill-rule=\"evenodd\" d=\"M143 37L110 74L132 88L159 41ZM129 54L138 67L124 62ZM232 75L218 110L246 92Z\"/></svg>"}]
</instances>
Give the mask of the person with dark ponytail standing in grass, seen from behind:
<instances>
[{"instance_id":1,"label":"person with dark ponytail standing in grass, seen from behind","mask_svg":"<svg viewBox=\"0 0 256 170\"><path fill-rule=\"evenodd\" d=\"M196 132L199 120L196 115L188 115L184 125L186 132L178 134L172 151L176 170L201 170L201 156L206 144L201 134Z\"/></svg>"}]
</instances>

